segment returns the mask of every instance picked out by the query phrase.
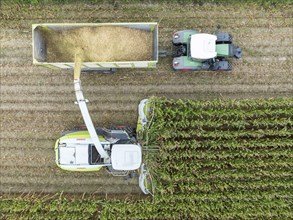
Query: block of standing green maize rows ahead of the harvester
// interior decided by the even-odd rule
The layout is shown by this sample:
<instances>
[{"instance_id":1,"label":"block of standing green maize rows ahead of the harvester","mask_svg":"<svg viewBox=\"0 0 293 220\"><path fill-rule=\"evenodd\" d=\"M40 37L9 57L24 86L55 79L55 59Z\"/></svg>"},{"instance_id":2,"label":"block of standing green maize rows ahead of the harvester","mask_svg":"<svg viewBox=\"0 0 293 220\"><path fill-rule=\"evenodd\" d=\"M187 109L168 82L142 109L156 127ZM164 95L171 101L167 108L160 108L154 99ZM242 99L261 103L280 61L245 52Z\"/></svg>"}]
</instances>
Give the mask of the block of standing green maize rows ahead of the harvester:
<instances>
[{"instance_id":1,"label":"block of standing green maize rows ahead of the harvester","mask_svg":"<svg viewBox=\"0 0 293 220\"><path fill-rule=\"evenodd\" d=\"M143 143L157 148L144 154L154 197L113 202L103 216L293 217L293 99L150 102Z\"/></svg>"}]
</instances>

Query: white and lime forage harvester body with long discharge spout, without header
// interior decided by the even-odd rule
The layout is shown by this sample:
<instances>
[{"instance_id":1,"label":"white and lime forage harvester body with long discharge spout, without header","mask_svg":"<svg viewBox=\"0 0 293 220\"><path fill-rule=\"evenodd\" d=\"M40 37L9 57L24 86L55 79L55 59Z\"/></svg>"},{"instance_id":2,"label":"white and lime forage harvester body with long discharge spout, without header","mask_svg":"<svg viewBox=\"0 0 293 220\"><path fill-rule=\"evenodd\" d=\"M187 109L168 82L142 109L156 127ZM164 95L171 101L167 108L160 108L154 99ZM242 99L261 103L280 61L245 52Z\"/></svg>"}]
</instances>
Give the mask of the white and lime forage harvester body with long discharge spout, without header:
<instances>
[{"instance_id":1,"label":"white and lime forage harvester body with long discharge spout, without header","mask_svg":"<svg viewBox=\"0 0 293 220\"><path fill-rule=\"evenodd\" d=\"M70 171L94 171L108 167L113 175L127 174L139 169L141 147L131 130L125 127L96 129L83 96L80 81L81 62L75 63L74 90L86 130L70 131L56 141L57 165Z\"/></svg>"}]
</instances>

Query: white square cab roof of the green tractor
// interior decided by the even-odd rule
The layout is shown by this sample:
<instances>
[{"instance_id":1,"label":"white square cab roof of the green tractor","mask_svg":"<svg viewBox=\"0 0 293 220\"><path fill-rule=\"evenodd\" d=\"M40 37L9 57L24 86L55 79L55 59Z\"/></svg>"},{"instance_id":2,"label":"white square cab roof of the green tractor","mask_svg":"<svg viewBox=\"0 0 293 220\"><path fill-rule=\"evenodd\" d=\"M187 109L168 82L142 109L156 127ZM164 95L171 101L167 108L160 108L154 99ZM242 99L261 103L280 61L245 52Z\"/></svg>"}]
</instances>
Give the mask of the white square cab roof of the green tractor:
<instances>
[{"instance_id":1,"label":"white square cab roof of the green tractor","mask_svg":"<svg viewBox=\"0 0 293 220\"><path fill-rule=\"evenodd\" d=\"M194 59L206 60L217 56L217 36L212 34L193 34L190 41L190 55Z\"/></svg>"}]
</instances>

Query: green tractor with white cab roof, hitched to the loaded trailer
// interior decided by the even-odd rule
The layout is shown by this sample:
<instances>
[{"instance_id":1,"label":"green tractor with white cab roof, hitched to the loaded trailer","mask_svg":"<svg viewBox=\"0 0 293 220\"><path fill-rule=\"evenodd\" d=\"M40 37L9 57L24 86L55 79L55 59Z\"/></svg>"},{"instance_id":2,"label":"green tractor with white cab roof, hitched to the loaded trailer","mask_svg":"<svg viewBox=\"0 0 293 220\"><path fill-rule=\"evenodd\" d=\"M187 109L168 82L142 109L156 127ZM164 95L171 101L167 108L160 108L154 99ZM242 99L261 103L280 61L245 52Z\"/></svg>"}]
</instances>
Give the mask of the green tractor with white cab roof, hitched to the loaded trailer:
<instances>
[{"instance_id":1,"label":"green tractor with white cab roof, hitched to the loaded trailer","mask_svg":"<svg viewBox=\"0 0 293 220\"><path fill-rule=\"evenodd\" d=\"M232 44L228 33L204 34L194 30L182 30L173 34L173 68L175 70L229 71L226 58L241 58L242 51Z\"/></svg>"}]
</instances>

